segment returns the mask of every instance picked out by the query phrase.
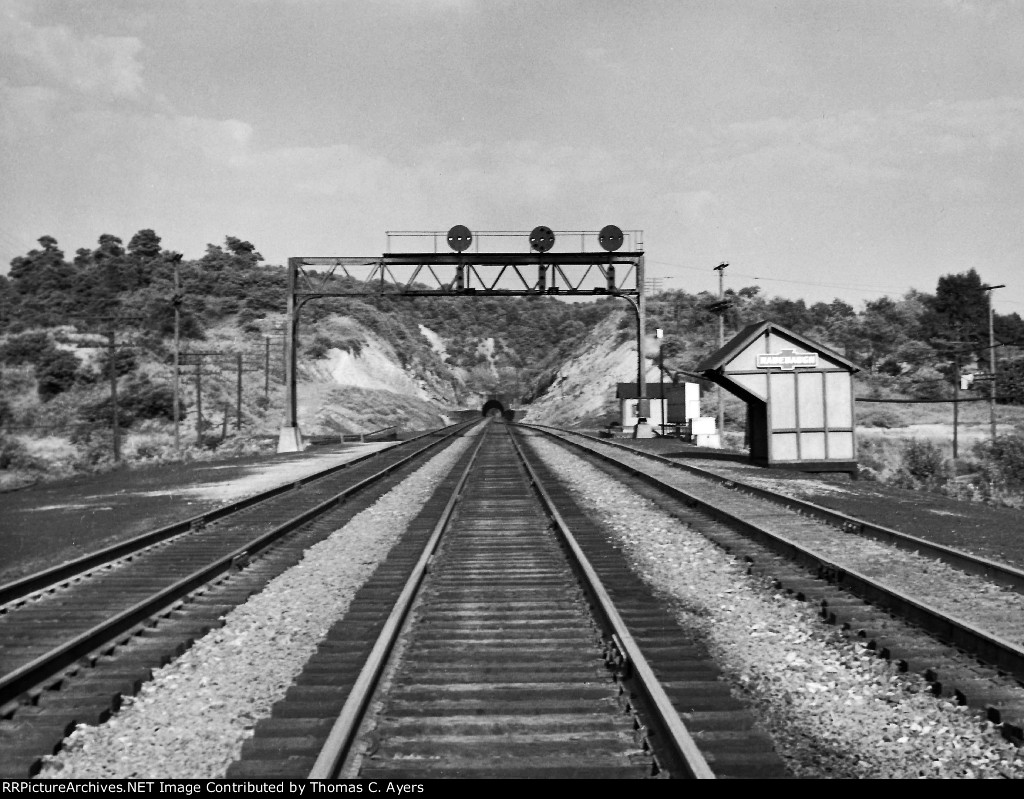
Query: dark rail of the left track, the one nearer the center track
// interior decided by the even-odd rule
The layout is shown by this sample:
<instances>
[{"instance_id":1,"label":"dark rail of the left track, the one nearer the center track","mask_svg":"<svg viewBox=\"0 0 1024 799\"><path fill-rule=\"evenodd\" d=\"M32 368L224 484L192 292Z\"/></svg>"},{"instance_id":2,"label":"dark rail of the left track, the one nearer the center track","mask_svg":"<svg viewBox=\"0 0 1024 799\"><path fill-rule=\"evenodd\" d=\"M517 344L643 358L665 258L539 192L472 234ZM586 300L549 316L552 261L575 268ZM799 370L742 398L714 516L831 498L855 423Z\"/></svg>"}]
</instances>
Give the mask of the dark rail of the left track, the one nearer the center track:
<instances>
[{"instance_id":1,"label":"dark rail of the left track, the one nearer the center track","mask_svg":"<svg viewBox=\"0 0 1024 799\"><path fill-rule=\"evenodd\" d=\"M50 679L54 675L58 674L62 669L66 669L75 663L75 661L79 658L85 657L90 653L101 648L118 636L121 636L138 627L146 619L159 616L173 602L196 590L201 585L208 583L218 575L230 570L237 562L252 556L254 553L259 552L262 549L265 549L274 541L292 532L296 528L299 528L316 516L322 515L326 511L344 502L348 497L372 486L394 470L439 446L441 443L449 440L458 434L459 431L461 431L461 428L455 431L450 431L444 437L437 438L436 440L428 444L426 447L420 448L411 453L401 460L388 464L384 469L364 478L362 480L359 480L352 486L349 486L345 490L318 503L314 507L293 516L282 524L279 524L272 530L237 548L232 552L221 556L212 563L193 572L190 575L178 580L174 584L158 591L147 599L132 605L131 607L103 622L100 622L98 625L93 626L85 632L77 635L75 638L72 638L65 643L55 646L49 651L44 653L14 671L0 676L0 707L14 702L19 696L24 695L25 691L45 682L47 679Z\"/></svg>"}]
</instances>

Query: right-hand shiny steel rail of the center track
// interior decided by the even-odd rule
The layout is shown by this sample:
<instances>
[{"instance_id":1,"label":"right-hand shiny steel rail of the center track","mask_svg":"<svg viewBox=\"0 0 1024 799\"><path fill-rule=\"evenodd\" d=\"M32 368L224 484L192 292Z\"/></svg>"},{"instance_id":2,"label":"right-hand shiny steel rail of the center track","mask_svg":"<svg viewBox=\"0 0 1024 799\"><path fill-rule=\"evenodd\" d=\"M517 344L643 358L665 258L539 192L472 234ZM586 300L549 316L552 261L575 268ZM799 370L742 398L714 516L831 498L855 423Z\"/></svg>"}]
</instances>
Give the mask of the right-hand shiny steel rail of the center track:
<instances>
[{"instance_id":1,"label":"right-hand shiny steel rail of the center track","mask_svg":"<svg viewBox=\"0 0 1024 799\"><path fill-rule=\"evenodd\" d=\"M551 495L544 488L529 459L516 440L515 435L511 435L511 437L516 453L529 475L534 490L541 498L541 502L555 531L568 548L571 555L570 560L573 561L575 571L582 578L581 582L593 598L592 609L602 617L605 629L612 633L612 640L620 646L622 654L629 663L636 687L640 689L645 700L645 710L648 716L646 720L653 722L654 726L657 727L657 731L660 734L656 737L656 740L667 742L667 745L671 748L670 758L672 762L668 764L669 772L672 773L675 771L678 774L678 769L681 767L692 779L716 779L715 772L700 753L686 725L679 718L679 714L673 707L672 701L665 692L665 688L662 687L662 683L657 677L654 676L653 669L651 669L639 644L630 632L629 627L615 608L614 602L611 600L607 590L605 590L601 578L598 577L590 559L572 535L568 523L562 517L561 513L559 513Z\"/></svg>"}]
</instances>

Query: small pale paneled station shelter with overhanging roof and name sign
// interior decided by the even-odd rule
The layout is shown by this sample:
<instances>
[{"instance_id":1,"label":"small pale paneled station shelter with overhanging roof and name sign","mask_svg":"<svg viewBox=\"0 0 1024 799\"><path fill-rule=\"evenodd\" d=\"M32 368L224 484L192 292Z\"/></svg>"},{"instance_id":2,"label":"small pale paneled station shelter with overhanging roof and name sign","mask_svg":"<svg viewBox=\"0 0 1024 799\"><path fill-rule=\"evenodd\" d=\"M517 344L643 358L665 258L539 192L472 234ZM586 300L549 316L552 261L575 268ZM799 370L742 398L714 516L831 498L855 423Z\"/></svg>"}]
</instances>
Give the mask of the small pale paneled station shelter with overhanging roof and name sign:
<instances>
[{"instance_id":1,"label":"small pale paneled station shelter with overhanging roof and name sign","mask_svg":"<svg viewBox=\"0 0 1024 799\"><path fill-rule=\"evenodd\" d=\"M843 355L772 322L739 331L696 371L746 403L751 460L857 472L853 373Z\"/></svg>"}]
</instances>

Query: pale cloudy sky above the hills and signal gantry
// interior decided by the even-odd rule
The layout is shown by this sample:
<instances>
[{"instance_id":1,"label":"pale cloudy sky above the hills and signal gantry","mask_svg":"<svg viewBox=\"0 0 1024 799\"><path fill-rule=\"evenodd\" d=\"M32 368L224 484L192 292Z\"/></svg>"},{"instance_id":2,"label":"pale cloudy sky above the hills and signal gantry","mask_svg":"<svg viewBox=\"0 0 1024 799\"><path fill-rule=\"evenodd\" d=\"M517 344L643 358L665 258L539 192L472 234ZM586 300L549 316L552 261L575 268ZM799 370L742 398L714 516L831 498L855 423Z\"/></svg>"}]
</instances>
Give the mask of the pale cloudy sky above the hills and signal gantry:
<instances>
[{"instance_id":1,"label":"pale cloudy sky above the hills and signal gantry","mask_svg":"<svg viewBox=\"0 0 1024 799\"><path fill-rule=\"evenodd\" d=\"M643 232L664 289L1024 314L1024 0L0 0L0 269Z\"/></svg>"}]
</instances>

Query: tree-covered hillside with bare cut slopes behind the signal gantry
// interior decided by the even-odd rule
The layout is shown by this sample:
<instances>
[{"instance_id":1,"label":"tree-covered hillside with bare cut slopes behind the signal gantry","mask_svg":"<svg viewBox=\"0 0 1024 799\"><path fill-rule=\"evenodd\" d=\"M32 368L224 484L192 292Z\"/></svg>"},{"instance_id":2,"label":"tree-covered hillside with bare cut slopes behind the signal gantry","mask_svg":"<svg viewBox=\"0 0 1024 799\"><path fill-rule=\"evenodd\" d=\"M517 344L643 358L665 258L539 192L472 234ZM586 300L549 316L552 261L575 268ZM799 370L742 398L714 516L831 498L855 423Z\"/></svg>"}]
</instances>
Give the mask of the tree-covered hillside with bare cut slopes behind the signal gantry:
<instances>
[{"instance_id":1,"label":"tree-covered hillside with bare cut slopes behind the signal gantry","mask_svg":"<svg viewBox=\"0 0 1024 799\"><path fill-rule=\"evenodd\" d=\"M284 416L286 269L262 264L251 243L230 236L193 260L164 250L148 229L127 246L104 234L70 260L51 237L39 244L0 277L0 476L109 468L115 387L126 461L272 448ZM362 290L338 277L326 288ZM984 286L974 270L944 277L934 295L911 291L860 309L839 299L808 306L757 287L728 290L725 299L727 335L770 319L818 339L863 368L857 392L867 398L946 398L958 374L990 367ZM715 300L685 291L648 298L648 334L666 331L670 374L718 346ZM172 424L175 307L180 448ZM636 376L634 319L612 297L373 294L309 302L300 324L300 426L307 434L425 427L495 394L530 420L602 424L614 415L614 384ZM1014 313L993 322L1000 402L1024 404L1024 321ZM649 356L655 352L652 342ZM985 393L976 388L966 398ZM923 409L872 406L860 418L894 426ZM742 418L728 403L727 423L741 426Z\"/></svg>"}]
</instances>

